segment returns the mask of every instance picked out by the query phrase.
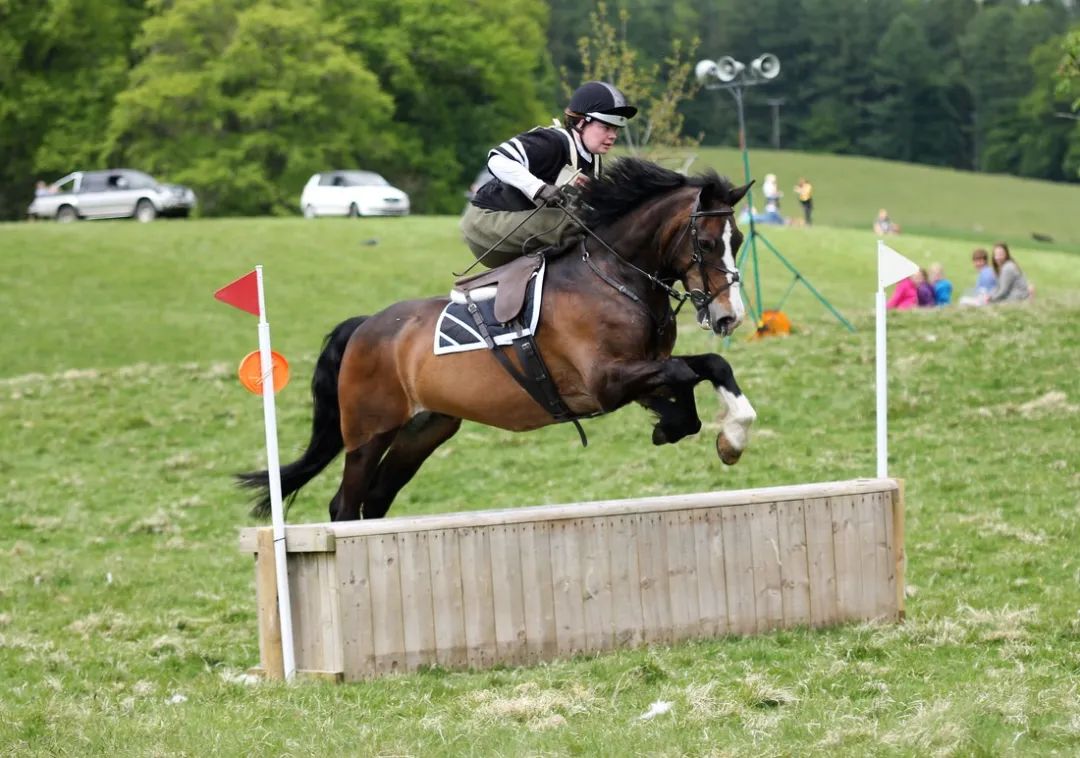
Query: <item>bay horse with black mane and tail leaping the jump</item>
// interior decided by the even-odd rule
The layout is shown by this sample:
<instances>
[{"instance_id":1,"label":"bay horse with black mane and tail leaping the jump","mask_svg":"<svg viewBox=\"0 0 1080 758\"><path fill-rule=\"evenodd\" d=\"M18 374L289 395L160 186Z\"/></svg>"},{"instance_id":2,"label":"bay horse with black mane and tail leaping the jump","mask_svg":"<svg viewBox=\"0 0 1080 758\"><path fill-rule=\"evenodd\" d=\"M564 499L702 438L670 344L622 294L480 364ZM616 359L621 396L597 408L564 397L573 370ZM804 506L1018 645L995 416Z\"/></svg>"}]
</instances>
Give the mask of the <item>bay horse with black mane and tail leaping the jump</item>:
<instances>
[{"instance_id":1,"label":"bay horse with black mane and tail leaping the jump","mask_svg":"<svg viewBox=\"0 0 1080 758\"><path fill-rule=\"evenodd\" d=\"M745 315L734 206L750 187L715 172L687 177L624 158L582 190L579 220L586 233L548 259L536 331L575 419L637 402L657 417L653 444L675 443L700 431L693 388L708 380L723 406L717 454L729 465L739 460L756 412L731 366L717 354L672 351L675 316L687 300L700 326L718 335L730 335ZM433 354L447 301L396 302L327 335L311 382L311 439L300 458L282 466L283 496L292 500L343 449L330 518L379 518L463 419L514 432L556 422L490 351ZM267 472L238 478L261 490L253 514L269 514Z\"/></svg>"}]
</instances>

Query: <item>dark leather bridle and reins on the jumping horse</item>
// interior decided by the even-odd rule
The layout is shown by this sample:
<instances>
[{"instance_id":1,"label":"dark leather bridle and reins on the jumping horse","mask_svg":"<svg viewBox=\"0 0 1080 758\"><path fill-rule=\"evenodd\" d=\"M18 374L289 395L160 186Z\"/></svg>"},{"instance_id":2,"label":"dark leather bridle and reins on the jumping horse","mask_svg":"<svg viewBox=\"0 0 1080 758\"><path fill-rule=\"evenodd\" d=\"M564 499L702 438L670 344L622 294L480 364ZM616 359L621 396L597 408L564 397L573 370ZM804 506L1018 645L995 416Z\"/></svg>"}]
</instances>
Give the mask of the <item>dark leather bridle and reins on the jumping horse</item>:
<instances>
[{"instance_id":1,"label":"dark leather bridle and reins on the jumping horse","mask_svg":"<svg viewBox=\"0 0 1080 758\"><path fill-rule=\"evenodd\" d=\"M678 236L675 239L674 244L672 244L671 247L669 248L669 251L678 249L679 245L681 245L683 241L686 239L686 235L690 234L690 240L693 243L693 251L690 254L690 261L687 263L686 268L683 269L681 272L675 274L675 279L685 282L687 273L689 273L690 269L692 269L694 265L697 265L698 272L701 278L701 284L704 287L704 289L690 289L689 292L686 293L678 292L670 284L664 282L662 279L660 279L658 274L649 273L648 271L642 269L638 266L635 266L634 263L623 258L621 255L619 255L618 251L616 251L607 242L602 240L595 232L593 232L593 230L589 229L584 224L582 224L581 219L579 219L572 212L570 212L565 207L563 209L567 213L567 215L570 216L570 218L572 218L578 224L578 226L584 229L589 235L591 235L593 239L599 242L604 247L606 247L607 251L615 256L617 261L619 261L623 266L634 269L634 271L642 274L643 276L645 276L645 279L649 280L650 282L652 282L653 286L663 289L664 293L667 295L667 297L675 301L676 304L673 309L671 309L671 313L667 319L669 322L674 320L675 316L678 315L679 310L681 310L683 306L686 304L687 300L689 300L696 309L701 311L708 308L708 304L713 300L719 297L723 293L730 289L732 285L739 283L738 270L728 269L726 266L717 266L716 263L705 262L705 249L701 246L701 240L699 239L701 231L698 228L698 219L700 218L712 218L716 216L734 216L734 211L731 208L718 209L718 211L702 211L700 191L698 192L698 197L693 201L693 208L690 211L690 215L687 219L687 225L683 228L683 231L679 232ZM661 260L665 258L666 256L662 254ZM635 302L645 307L645 302L642 300L640 297L638 297L634 292L629 289L625 285L620 284L619 282L611 279L608 274L602 271L596 266L596 263L592 261L589 249L585 246L584 238L582 238L581 240L581 259L589 265L589 268L591 268L593 272L596 273L597 276L604 280L607 284L615 287L620 294L625 295L631 300L634 300ZM727 286L717 289L715 293L711 293L708 288L708 276L706 275L706 269L713 269L724 274L728 280ZM651 315L651 311L649 313ZM658 328L660 328L660 326L661 325L658 324Z\"/></svg>"}]
</instances>

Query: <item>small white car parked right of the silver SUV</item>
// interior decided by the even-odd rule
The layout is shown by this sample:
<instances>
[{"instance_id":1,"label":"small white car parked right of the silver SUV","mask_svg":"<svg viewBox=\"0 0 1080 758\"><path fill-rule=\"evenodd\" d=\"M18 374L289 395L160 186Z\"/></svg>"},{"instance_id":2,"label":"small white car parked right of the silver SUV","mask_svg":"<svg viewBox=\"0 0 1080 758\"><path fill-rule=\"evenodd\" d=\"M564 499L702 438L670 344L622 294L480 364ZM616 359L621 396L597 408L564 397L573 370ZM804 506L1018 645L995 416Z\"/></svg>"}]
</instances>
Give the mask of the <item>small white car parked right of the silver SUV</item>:
<instances>
[{"instance_id":1,"label":"small white car parked right of the silver SUV","mask_svg":"<svg viewBox=\"0 0 1080 758\"><path fill-rule=\"evenodd\" d=\"M306 218L319 216L406 216L408 195L370 171L315 174L300 193Z\"/></svg>"}]
</instances>

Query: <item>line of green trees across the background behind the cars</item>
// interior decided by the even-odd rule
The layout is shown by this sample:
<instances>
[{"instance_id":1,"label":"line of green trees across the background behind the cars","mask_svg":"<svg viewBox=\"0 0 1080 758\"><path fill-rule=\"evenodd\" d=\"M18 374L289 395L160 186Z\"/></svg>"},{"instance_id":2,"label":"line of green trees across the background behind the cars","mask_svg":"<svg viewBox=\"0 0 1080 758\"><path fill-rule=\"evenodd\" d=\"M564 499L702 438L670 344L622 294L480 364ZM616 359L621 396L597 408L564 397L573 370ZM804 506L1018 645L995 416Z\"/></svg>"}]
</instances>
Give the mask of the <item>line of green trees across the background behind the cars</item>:
<instances>
[{"instance_id":1,"label":"line of green trees across the background behind the cars","mask_svg":"<svg viewBox=\"0 0 1080 758\"><path fill-rule=\"evenodd\" d=\"M781 77L747 91L752 145L772 140L773 98L784 148L1078 180L1080 122L1064 117L1080 84L1059 73L1071 1L608 5L635 65L659 72L635 91L651 84L656 108L677 106L686 137L734 144L732 103L683 81L664 97L664 77L686 78L694 55L771 52ZM387 175L417 211L456 212L491 145L558 114L590 64L581 38L597 8L0 2L0 217L25 214L36 179L106 165L190 185L207 215L295 213L308 176L352 166Z\"/></svg>"}]
</instances>

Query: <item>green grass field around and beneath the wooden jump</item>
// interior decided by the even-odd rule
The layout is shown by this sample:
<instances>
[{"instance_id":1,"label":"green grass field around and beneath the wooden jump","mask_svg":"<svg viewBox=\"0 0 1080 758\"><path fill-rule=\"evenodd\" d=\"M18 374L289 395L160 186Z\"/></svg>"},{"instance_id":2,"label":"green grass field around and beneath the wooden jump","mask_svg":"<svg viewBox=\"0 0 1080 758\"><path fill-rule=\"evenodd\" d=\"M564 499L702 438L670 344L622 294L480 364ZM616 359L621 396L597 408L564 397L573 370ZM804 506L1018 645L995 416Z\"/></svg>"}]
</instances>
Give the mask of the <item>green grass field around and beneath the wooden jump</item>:
<instances>
[{"instance_id":1,"label":"green grass field around and beneath the wooden jump","mask_svg":"<svg viewBox=\"0 0 1080 758\"><path fill-rule=\"evenodd\" d=\"M725 347L685 323L680 349L723 350L760 414L739 465L716 461L711 424L653 448L637 408L588 422L586 450L568 428L465 424L391 513L872 475L874 239L769 239L858 331L802 287L792 338ZM963 289L981 239L893 242ZM212 293L266 266L295 373L278 405L287 460L321 336L444 292L467 261L455 219L2 226L0 754L1075 755L1080 271L1071 254L1014 253L1035 302L891 316L906 623L287 687L243 677L258 650L235 528L251 522L229 475L262 463L260 403L234 377L256 329ZM758 262L769 306L789 278ZM336 485L316 479L292 517L323 520ZM657 700L672 712L638 720Z\"/></svg>"}]
</instances>

